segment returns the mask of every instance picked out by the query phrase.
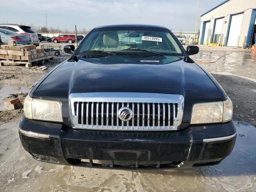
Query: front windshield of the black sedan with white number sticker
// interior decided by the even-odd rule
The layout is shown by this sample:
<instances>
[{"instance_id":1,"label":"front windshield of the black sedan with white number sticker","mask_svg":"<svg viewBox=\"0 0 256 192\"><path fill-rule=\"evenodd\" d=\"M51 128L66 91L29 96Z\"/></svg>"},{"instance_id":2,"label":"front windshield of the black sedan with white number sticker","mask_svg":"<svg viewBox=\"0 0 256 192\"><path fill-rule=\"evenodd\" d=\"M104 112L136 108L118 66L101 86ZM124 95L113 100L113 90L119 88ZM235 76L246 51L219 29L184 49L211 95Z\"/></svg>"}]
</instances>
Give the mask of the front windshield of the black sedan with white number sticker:
<instances>
[{"instance_id":1,"label":"front windshield of the black sedan with white number sticker","mask_svg":"<svg viewBox=\"0 0 256 192\"><path fill-rule=\"evenodd\" d=\"M161 28L99 28L94 29L79 46L77 55L84 52L108 52L111 54L163 54L183 55L183 52L167 29ZM136 52L136 53L135 53Z\"/></svg>"}]
</instances>

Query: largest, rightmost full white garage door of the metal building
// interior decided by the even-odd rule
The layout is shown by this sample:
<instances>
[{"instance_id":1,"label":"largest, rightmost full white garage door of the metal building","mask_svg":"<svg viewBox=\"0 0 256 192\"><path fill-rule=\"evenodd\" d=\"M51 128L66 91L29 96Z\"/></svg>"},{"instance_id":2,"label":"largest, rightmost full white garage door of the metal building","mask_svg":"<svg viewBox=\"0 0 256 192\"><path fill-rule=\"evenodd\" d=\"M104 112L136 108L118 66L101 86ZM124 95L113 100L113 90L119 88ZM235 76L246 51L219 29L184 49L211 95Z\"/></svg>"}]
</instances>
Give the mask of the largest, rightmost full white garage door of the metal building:
<instances>
[{"instance_id":1,"label":"largest, rightmost full white garage door of the metal building","mask_svg":"<svg viewBox=\"0 0 256 192\"><path fill-rule=\"evenodd\" d=\"M244 14L232 15L227 46L237 46L237 40L240 37L243 17Z\"/></svg>"}]
</instances>

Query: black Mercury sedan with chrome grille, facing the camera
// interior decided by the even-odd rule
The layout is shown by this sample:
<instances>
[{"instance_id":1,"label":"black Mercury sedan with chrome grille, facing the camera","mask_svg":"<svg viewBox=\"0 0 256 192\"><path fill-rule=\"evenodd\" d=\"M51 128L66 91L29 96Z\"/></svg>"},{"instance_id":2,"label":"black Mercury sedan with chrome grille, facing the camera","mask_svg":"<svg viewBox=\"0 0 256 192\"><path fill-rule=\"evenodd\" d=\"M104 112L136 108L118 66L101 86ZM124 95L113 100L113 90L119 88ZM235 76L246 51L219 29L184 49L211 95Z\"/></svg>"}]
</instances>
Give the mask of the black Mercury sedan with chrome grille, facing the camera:
<instances>
[{"instance_id":1,"label":"black Mercury sedan with chrome grille, facing the camera","mask_svg":"<svg viewBox=\"0 0 256 192\"><path fill-rule=\"evenodd\" d=\"M236 140L220 84L162 26L94 28L24 101L20 140L36 160L112 169L209 166Z\"/></svg>"}]
</instances>

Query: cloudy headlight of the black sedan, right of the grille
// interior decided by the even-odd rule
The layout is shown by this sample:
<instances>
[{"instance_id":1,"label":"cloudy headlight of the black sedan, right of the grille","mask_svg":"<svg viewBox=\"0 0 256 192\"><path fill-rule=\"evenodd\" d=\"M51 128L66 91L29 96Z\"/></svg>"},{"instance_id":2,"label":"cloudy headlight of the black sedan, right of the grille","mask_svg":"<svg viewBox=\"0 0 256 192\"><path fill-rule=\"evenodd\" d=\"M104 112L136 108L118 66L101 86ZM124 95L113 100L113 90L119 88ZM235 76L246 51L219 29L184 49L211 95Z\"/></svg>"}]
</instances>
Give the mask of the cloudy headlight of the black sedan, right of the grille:
<instances>
[{"instance_id":1,"label":"cloudy headlight of the black sedan, right of the grille","mask_svg":"<svg viewBox=\"0 0 256 192\"><path fill-rule=\"evenodd\" d=\"M233 104L230 98L224 102L194 104L190 124L229 122L233 115Z\"/></svg>"}]
</instances>

